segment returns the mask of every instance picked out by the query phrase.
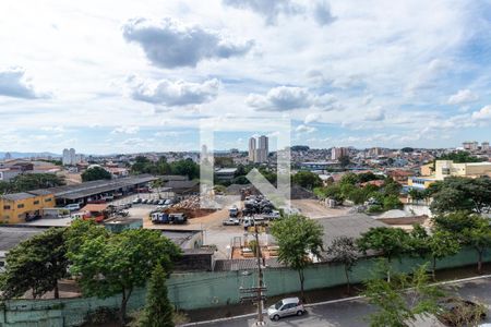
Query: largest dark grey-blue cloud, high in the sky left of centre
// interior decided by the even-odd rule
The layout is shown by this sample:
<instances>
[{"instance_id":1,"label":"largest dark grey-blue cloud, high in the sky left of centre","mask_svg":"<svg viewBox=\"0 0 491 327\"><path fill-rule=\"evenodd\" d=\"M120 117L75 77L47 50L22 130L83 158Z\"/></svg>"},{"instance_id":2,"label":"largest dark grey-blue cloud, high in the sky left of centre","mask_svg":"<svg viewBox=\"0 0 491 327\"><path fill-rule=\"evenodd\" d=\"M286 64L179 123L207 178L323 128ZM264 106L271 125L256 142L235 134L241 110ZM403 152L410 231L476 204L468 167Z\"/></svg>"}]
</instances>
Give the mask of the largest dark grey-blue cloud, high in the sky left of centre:
<instances>
[{"instance_id":1,"label":"largest dark grey-blue cloud, high in the sky left of centre","mask_svg":"<svg viewBox=\"0 0 491 327\"><path fill-rule=\"evenodd\" d=\"M130 20L123 26L123 36L139 44L153 64L170 69L195 66L204 59L240 57L254 45L252 40L231 40L217 32L169 17L158 22Z\"/></svg>"}]
</instances>

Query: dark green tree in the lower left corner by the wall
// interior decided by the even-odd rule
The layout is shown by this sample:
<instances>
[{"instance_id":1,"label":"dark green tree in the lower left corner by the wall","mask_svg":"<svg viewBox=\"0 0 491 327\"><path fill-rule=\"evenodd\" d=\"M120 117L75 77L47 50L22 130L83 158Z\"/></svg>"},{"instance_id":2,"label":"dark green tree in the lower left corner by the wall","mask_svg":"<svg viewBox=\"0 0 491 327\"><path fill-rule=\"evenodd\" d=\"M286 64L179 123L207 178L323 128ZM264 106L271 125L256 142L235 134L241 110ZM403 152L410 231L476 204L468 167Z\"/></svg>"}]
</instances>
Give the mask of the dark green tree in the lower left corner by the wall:
<instances>
[{"instance_id":1,"label":"dark green tree in the lower left corner by the wall","mask_svg":"<svg viewBox=\"0 0 491 327\"><path fill-rule=\"evenodd\" d=\"M55 291L58 299L58 280L67 277L68 265L63 228L23 241L7 255L7 270L0 274L1 296L12 299L31 291L36 299Z\"/></svg>"}]
</instances>

